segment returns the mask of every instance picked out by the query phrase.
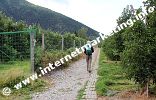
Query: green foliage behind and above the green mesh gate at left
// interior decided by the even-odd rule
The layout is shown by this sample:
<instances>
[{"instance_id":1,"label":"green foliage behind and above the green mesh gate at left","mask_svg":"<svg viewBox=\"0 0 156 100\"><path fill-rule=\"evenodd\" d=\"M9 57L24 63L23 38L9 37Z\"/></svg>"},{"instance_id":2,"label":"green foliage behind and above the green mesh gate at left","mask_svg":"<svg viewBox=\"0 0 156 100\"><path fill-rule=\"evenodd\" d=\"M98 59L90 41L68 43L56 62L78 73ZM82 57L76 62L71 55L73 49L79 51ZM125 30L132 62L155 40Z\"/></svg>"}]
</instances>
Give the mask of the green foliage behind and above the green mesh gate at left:
<instances>
[{"instance_id":1,"label":"green foliage behind and above the green mesh gate at left","mask_svg":"<svg viewBox=\"0 0 156 100\"><path fill-rule=\"evenodd\" d=\"M0 32L14 32L24 30L27 26L22 22L15 22L0 12ZM0 62L12 59L28 58L29 34L0 34Z\"/></svg>"}]
</instances>

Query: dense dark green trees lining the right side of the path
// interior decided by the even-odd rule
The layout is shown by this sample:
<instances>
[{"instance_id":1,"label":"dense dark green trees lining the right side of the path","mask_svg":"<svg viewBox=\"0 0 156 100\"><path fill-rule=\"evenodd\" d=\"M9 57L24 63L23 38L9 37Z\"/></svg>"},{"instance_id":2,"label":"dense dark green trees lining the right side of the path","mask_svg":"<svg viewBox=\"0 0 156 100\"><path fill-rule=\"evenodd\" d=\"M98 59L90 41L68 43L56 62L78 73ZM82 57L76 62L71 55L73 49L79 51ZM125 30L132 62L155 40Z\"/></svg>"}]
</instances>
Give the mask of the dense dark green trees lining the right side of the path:
<instances>
[{"instance_id":1,"label":"dense dark green trees lining the right side of the path","mask_svg":"<svg viewBox=\"0 0 156 100\"><path fill-rule=\"evenodd\" d=\"M144 2L147 9L156 6L156 1ZM142 11L140 8L137 13ZM121 60L126 76L141 86L156 83L156 11L149 14L146 23L137 21L132 27L114 33L104 40L103 51L111 60ZM118 24L132 18L124 9ZM115 56L115 54L117 56ZM118 58L116 58L118 57Z\"/></svg>"}]
</instances>

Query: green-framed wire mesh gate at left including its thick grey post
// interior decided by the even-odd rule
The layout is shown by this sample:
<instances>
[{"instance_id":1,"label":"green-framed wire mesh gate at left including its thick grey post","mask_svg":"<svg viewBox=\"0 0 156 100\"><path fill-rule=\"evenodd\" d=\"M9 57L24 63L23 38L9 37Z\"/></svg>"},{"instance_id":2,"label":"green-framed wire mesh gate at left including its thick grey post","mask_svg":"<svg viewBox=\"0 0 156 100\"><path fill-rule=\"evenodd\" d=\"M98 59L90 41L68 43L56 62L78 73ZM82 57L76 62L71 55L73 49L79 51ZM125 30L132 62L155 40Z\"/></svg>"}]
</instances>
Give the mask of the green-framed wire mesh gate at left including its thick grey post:
<instances>
[{"instance_id":1,"label":"green-framed wire mesh gate at left including its thick grey post","mask_svg":"<svg viewBox=\"0 0 156 100\"><path fill-rule=\"evenodd\" d=\"M0 32L0 66L21 66L27 63L27 67L34 70L34 32L29 31L18 32ZM25 65L23 65L25 66Z\"/></svg>"}]
</instances>

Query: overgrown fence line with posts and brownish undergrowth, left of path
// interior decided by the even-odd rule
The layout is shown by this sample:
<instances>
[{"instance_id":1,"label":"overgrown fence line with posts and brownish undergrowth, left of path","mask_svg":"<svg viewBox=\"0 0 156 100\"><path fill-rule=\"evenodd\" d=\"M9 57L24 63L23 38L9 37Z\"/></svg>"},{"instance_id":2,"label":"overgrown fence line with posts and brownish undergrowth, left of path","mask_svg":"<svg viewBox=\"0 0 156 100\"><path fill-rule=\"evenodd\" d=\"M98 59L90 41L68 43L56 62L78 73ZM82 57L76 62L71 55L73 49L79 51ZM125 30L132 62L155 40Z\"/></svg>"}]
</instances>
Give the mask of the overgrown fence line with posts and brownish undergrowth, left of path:
<instances>
[{"instance_id":1,"label":"overgrown fence line with posts and brownish undergrowth, left of path","mask_svg":"<svg viewBox=\"0 0 156 100\"><path fill-rule=\"evenodd\" d=\"M75 50L85 45L86 39L76 36L72 33L59 34L57 32L39 31L36 38L35 46L35 70L40 67L48 66L65 55L69 55ZM74 60L79 59L80 56ZM62 65L68 66L69 62Z\"/></svg>"}]
</instances>

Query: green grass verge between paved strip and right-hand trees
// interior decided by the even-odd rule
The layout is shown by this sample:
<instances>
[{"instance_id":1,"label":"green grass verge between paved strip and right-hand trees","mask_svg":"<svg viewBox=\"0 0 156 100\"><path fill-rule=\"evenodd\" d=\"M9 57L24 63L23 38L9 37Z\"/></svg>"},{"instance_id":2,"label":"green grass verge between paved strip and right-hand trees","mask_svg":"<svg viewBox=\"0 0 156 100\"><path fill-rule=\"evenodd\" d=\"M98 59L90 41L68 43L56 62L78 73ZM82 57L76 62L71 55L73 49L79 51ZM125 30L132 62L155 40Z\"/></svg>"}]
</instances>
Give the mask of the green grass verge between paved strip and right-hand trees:
<instances>
[{"instance_id":1,"label":"green grass verge between paved strip and right-hand trees","mask_svg":"<svg viewBox=\"0 0 156 100\"><path fill-rule=\"evenodd\" d=\"M133 90L137 86L125 77L120 62L107 61L101 50L96 92L99 96L113 96L120 91Z\"/></svg>"}]
</instances>

